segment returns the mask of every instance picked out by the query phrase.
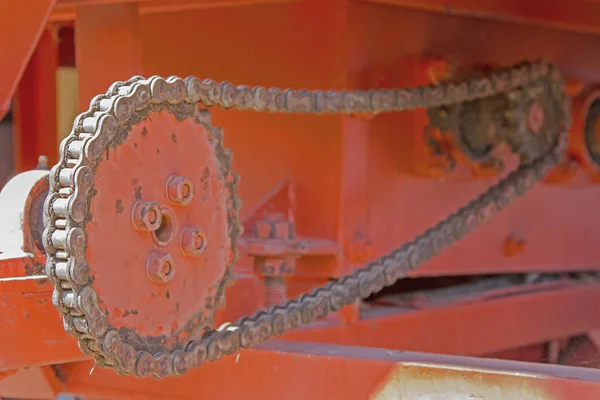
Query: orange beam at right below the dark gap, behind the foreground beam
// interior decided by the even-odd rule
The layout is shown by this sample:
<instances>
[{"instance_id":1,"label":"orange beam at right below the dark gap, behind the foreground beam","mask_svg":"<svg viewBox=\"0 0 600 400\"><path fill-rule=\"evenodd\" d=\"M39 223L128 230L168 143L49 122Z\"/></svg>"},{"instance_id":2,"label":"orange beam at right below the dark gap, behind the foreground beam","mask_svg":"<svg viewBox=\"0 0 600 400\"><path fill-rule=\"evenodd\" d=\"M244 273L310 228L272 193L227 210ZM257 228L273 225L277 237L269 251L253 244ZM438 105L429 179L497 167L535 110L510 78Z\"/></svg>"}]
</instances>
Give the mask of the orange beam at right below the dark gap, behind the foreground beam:
<instances>
[{"instance_id":1,"label":"orange beam at right below the dark gap, behind the foreground beam","mask_svg":"<svg viewBox=\"0 0 600 400\"><path fill-rule=\"evenodd\" d=\"M283 338L481 356L600 327L600 316L590 308L598 302L597 283L540 291L532 285L529 293L466 303L372 307L356 322L313 324Z\"/></svg>"}]
</instances>

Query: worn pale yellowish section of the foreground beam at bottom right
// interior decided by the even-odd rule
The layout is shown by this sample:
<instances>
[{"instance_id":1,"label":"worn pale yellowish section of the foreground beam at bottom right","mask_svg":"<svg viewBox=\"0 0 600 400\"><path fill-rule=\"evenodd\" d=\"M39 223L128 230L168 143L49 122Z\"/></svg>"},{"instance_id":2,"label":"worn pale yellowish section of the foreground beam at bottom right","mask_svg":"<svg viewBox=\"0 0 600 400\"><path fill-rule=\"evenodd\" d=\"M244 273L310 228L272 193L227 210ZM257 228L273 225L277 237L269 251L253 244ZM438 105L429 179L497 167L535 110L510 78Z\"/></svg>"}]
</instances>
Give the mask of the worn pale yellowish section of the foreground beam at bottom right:
<instances>
[{"instance_id":1,"label":"worn pale yellowish section of the foreground beam at bottom right","mask_svg":"<svg viewBox=\"0 0 600 400\"><path fill-rule=\"evenodd\" d=\"M397 359L370 399L566 400L600 393L598 370L587 368L411 353Z\"/></svg>"}]
</instances>

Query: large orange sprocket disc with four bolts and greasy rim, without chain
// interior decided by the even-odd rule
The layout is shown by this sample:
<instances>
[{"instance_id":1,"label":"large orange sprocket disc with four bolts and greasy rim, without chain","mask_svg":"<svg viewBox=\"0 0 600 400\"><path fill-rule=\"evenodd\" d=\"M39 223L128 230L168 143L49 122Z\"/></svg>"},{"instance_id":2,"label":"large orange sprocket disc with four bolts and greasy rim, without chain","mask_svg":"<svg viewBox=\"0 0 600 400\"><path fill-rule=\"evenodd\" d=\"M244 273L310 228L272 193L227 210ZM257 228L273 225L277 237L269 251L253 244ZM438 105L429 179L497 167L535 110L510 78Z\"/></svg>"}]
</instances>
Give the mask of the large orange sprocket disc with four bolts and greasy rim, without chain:
<instances>
[{"instance_id":1,"label":"large orange sprocket disc with four bolts and greasy rim, without chain","mask_svg":"<svg viewBox=\"0 0 600 400\"><path fill-rule=\"evenodd\" d=\"M235 179L206 113L144 111L143 122L120 131L118 145L106 149L109 159L93 165L85 259L111 329L136 352L157 353L181 348L214 325L235 259ZM144 171L136 168L139 160ZM106 240L114 232L118 243ZM106 262L115 253L126 268Z\"/></svg>"}]
</instances>

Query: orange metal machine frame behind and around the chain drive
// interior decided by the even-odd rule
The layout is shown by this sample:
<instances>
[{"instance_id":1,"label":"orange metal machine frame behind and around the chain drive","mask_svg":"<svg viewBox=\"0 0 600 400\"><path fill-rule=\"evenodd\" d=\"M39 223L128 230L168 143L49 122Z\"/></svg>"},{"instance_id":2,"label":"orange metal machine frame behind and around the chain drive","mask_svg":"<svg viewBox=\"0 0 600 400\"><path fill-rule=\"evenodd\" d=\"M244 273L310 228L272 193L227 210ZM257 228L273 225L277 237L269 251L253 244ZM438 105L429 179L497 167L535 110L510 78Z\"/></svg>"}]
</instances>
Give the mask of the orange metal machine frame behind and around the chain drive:
<instances>
[{"instance_id":1,"label":"orange metal machine frame behind and around the chain drive","mask_svg":"<svg viewBox=\"0 0 600 400\"><path fill-rule=\"evenodd\" d=\"M114 81L133 75L196 75L309 89L403 87L427 83L451 64L511 64L536 58L557 63L572 79L570 91L578 110L585 103L586 89L600 81L600 20L596 18L600 2L573 0L568 7L546 3L3 2L0 114L12 101L15 170L21 172L34 168L41 154L49 157L50 164L56 162L53 77L65 57L74 59L77 69L80 110ZM74 48L64 38L59 40L59 28L73 30ZM455 171L440 168L424 145L427 118L421 111L375 118L212 112L215 125L224 129L226 146L233 150L234 169L242 177L239 192L246 229L253 229L265 215L284 213L293 217L299 240L307 244L306 254L288 279L288 296L396 247L504 173L483 171L464 159ZM558 168L545 184L413 277L597 270L600 247L594 242L600 233L600 214L590 211L598 202L600 187L577 139L581 115L575 113L574 118L569 149L574 167ZM505 161L507 167L514 164L512 159ZM250 314L266 301L251 256L266 250L260 244L244 246L245 256L236 266L220 321ZM365 398L394 365L407 358L335 345L485 356L600 327L592 307L600 301L600 284L593 282L531 285L491 299L417 308L374 304L361 311L357 304L284 337L327 343L328 351L338 352L331 359L317 354L321 350L307 350L308 344L282 342L181 379L142 382L103 370L90 375L90 362L64 332L51 304L51 285L40 275L43 255L15 256L6 244L0 244L0 252L0 320L7 327L0 329L0 394L6 396L39 397L43 392L49 398L70 391L102 398L123 393L183 398L226 397L245 391L256 397L294 398L304 393L298 387L306 385L294 383L302 377L318 382L311 383L315 398L340 396L340 390L345 398ZM451 361L462 363L435 360ZM405 376L419 371L406 368ZM490 364L490 368L500 366ZM539 372L537 368L542 366L536 366ZM457 373L452 368L444 371ZM494 373L486 377L497 378ZM36 384L19 384L24 379ZM339 380L334 384L329 379ZM534 378L520 379L552 387L547 397L552 399L591 398L585 396L599 390L596 375L581 384L560 376L543 384ZM567 388L581 390L581 395L566 392ZM565 397L567 393L570 397Z\"/></svg>"}]
</instances>

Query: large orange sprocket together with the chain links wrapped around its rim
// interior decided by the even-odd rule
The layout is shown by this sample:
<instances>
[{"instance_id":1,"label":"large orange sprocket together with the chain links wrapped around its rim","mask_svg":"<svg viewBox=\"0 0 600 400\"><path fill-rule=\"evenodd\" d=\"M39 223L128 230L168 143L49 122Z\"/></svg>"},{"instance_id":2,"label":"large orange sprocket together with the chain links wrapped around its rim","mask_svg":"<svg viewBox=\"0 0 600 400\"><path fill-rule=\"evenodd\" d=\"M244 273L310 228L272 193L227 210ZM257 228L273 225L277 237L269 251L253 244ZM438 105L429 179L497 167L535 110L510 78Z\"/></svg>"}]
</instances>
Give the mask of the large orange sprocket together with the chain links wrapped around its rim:
<instances>
[{"instance_id":1,"label":"large orange sprocket together with the chain links wrapped around its rim","mask_svg":"<svg viewBox=\"0 0 600 400\"><path fill-rule=\"evenodd\" d=\"M186 346L213 328L237 258L237 176L190 82L113 85L76 119L50 174L53 303L82 351L121 374L193 364Z\"/></svg>"}]
</instances>

